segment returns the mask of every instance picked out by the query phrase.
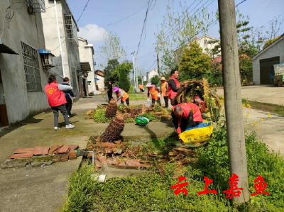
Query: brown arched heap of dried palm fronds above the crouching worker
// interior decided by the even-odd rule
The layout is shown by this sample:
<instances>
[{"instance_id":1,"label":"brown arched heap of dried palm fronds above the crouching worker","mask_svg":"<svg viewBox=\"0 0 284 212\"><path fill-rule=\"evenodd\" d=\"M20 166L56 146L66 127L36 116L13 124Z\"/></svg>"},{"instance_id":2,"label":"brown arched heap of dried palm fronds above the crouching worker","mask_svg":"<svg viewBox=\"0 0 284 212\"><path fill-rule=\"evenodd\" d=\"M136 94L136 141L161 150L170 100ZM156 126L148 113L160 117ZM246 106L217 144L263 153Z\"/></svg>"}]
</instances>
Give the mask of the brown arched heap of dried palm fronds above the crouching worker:
<instances>
[{"instance_id":1,"label":"brown arched heap of dried palm fronds above the crouching worker","mask_svg":"<svg viewBox=\"0 0 284 212\"><path fill-rule=\"evenodd\" d=\"M173 104L182 104L191 101L192 96L199 96L202 101L205 102L206 106L209 107L209 99L214 99L216 106L221 108L221 101L219 100L216 94L213 94L209 90L209 84L207 79L203 78L202 80L187 80L180 83L181 89L178 91L177 95L173 99ZM189 100L188 100L189 99Z\"/></svg>"}]
</instances>

